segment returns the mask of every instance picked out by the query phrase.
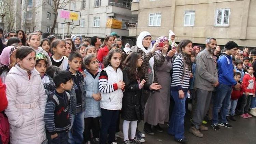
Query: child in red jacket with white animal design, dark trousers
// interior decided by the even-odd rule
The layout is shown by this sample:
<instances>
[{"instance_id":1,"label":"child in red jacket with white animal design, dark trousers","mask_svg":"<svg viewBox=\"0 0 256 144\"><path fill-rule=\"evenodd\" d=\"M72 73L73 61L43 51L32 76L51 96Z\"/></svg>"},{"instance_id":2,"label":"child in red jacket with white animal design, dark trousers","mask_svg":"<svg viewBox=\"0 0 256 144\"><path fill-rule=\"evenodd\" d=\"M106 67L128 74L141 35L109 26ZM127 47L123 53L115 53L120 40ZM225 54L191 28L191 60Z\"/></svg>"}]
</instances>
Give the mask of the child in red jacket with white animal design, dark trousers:
<instances>
[{"instance_id":1,"label":"child in red jacket with white animal design, dark trousers","mask_svg":"<svg viewBox=\"0 0 256 144\"><path fill-rule=\"evenodd\" d=\"M252 96L255 96L255 77L253 76L254 70L253 67L249 67L248 73L246 72L243 78L243 100L241 106L241 115L242 118L252 117L249 112L249 107L251 105Z\"/></svg>"}]
</instances>

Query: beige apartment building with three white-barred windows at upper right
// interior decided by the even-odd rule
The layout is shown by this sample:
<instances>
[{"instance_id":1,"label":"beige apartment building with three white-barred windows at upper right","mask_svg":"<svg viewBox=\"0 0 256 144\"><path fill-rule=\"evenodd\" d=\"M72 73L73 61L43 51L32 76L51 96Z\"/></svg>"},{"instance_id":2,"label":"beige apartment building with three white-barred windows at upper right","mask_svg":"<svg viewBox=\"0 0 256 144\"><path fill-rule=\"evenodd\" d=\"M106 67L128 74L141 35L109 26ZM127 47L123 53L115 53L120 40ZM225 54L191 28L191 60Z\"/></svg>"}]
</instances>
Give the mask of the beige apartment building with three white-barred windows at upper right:
<instances>
[{"instance_id":1,"label":"beige apartment building with three white-barred windows at upper right","mask_svg":"<svg viewBox=\"0 0 256 144\"><path fill-rule=\"evenodd\" d=\"M148 31L156 39L173 30L177 42L204 45L214 37L219 45L231 40L256 47L255 0L133 0L131 11L138 24L129 28L130 36Z\"/></svg>"}]
</instances>

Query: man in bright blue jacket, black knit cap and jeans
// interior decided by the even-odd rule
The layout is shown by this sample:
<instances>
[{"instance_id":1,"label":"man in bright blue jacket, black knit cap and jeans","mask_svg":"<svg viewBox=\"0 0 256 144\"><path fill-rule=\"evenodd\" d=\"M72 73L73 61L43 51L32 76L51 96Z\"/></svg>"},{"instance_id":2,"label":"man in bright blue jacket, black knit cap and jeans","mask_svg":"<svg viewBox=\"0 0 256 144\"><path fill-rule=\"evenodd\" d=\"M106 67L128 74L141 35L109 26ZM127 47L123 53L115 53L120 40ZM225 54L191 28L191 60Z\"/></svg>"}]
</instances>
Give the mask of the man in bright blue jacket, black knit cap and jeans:
<instances>
[{"instance_id":1,"label":"man in bright blue jacket, black knit cap and jeans","mask_svg":"<svg viewBox=\"0 0 256 144\"><path fill-rule=\"evenodd\" d=\"M229 41L226 45L226 52L219 56L218 64L218 76L219 86L217 88L217 95L214 99L213 105L213 120L212 127L214 130L220 130L219 126L232 128L227 122L226 115L228 114L228 107L230 105L230 97L232 92L232 86L235 89L240 89L240 84L234 80L233 77L233 65L231 55L235 56L238 51L237 43ZM222 107L222 109L221 109ZM220 122L218 120L218 112L221 109Z\"/></svg>"}]
</instances>

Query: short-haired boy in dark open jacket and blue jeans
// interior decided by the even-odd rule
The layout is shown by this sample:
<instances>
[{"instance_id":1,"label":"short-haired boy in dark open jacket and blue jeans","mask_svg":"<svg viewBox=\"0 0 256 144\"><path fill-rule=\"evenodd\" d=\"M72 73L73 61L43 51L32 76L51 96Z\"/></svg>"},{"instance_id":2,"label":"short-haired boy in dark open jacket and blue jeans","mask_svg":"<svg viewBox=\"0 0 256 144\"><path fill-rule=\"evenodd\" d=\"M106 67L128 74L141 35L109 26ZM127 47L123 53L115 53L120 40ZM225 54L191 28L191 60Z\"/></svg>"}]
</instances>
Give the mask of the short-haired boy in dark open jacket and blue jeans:
<instances>
[{"instance_id":1,"label":"short-haired boy in dark open jacket and blue jeans","mask_svg":"<svg viewBox=\"0 0 256 144\"><path fill-rule=\"evenodd\" d=\"M82 64L82 56L79 52L71 52L68 60L70 68L67 71L70 72L74 86L69 91L71 97L71 127L69 131L69 143L83 143L84 132L84 110L85 110L85 83L84 77L78 69ZM71 130L72 129L72 130ZM71 132L72 131L72 132Z\"/></svg>"}]
</instances>

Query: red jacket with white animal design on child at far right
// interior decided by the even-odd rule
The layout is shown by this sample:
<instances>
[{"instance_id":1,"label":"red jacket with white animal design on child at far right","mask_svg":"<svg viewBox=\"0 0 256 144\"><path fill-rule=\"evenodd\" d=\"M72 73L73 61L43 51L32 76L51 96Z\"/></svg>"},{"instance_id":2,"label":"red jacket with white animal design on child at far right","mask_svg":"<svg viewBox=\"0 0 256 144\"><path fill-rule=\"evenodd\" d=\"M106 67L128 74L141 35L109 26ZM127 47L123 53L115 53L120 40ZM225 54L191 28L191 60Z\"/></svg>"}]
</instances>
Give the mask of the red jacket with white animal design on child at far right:
<instances>
[{"instance_id":1,"label":"red jacket with white animal design on child at far right","mask_svg":"<svg viewBox=\"0 0 256 144\"><path fill-rule=\"evenodd\" d=\"M245 72L245 75L243 77L243 94L246 92L249 93L249 95L253 95L255 93L255 77L247 72Z\"/></svg>"}]
</instances>

